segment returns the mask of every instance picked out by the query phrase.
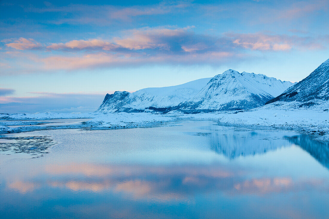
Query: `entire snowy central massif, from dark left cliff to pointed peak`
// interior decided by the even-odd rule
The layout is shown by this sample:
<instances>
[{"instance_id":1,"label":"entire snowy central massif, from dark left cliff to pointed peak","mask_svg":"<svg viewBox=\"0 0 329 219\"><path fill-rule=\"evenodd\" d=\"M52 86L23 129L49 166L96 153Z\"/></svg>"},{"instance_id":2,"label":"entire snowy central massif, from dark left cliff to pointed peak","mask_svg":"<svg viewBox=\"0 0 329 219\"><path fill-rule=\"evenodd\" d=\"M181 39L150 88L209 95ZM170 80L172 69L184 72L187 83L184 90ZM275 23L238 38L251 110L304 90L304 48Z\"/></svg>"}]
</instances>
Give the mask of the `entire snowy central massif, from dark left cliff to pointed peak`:
<instances>
[{"instance_id":1,"label":"entire snowy central massif, from dark left cliff to pointed peak","mask_svg":"<svg viewBox=\"0 0 329 219\"><path fill-rule=\"evenodd\" d=\"M229 69L213 78L182 85L150 87L133 93L106 94L98 112L139 112L145 109L251 109L264 105L292 85L266 75Z\"/></svg>"}]
</instances>

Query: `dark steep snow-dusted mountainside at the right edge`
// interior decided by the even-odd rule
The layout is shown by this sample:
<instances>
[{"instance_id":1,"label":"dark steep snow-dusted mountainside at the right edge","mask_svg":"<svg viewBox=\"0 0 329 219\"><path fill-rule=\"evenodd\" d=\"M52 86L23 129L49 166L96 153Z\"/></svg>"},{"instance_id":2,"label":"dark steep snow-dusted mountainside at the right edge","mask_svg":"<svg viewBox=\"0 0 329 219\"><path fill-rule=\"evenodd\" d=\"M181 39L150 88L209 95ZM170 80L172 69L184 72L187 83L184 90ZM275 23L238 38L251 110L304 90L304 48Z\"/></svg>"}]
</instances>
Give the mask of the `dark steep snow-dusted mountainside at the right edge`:
<instances>
[{"instance_id":1,"label":"dark steep snow-dusted mountainside at the right edge","mask_svg":"<svg viewBox=\"0 0 329 219\"><path fill-rule=\"evenodd\" d=\"M300 106L329 103L329 59L317 67L309 76L289 87L281 95L268 101L300 102Z\"/></svg>"}]
</instances>

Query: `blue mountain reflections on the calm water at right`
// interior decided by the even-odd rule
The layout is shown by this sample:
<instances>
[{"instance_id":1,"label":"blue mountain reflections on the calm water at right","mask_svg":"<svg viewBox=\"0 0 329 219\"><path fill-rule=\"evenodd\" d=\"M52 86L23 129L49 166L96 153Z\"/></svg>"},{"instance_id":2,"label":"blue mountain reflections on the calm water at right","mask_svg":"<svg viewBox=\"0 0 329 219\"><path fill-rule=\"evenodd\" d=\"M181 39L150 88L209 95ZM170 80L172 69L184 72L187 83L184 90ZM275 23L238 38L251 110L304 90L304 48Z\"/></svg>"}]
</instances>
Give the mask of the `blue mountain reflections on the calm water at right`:
<instances>
[{"instance_id":1,"label":"blue mountain reflections on the calm water at right","mask_svg":"<svg viewBox=\"0 0 329 219\"><path fill-rule=\"evenodd\" d=\"M299 146L319 163L329 169L329 143L317 141L308 135L282 132L282 136L273 131L237 131L233 129L214 130L213 126L204 127L211 133L197 133L208 137L210 148L228 158L253 156L275 151L282 147L290 147L291 143Z\"/></svg>"}]
</instances>

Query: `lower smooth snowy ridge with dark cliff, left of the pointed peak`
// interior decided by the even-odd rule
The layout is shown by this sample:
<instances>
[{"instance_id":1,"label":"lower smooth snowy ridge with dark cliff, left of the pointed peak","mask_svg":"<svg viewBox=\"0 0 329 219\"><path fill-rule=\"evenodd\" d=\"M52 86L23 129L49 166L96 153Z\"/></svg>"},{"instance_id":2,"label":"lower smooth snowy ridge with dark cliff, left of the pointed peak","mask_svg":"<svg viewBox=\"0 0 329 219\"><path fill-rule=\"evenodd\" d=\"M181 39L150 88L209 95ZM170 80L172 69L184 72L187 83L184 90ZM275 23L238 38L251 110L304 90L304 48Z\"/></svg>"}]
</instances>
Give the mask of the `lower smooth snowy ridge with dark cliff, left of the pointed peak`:
<instances>
[{"instance_id":1,"label":"lower smooth snowy ridge with dark cliff, left of the pointed peak","mask_svg":"<svg viewBox=\"0 0 329 219\"><path fill-rule=\"evenodd\" d=\"M194 97L211 78L202 78L182 85L149 87L133 93L115 91L106 94L98 112L144 110L145 108L171 108Z\"/></svg>"}]
</instances>

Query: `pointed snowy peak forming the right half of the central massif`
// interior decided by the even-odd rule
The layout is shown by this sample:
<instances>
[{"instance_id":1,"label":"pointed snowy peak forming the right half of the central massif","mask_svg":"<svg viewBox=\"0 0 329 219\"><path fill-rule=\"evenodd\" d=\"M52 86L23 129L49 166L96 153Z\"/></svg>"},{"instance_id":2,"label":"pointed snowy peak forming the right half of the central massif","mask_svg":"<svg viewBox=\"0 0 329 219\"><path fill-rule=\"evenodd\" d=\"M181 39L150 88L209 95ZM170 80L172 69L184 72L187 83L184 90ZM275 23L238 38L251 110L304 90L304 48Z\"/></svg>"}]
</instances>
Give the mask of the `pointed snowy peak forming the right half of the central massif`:
<instances>
[{"instance_id":1,"label":"pointed snowy peak forming the right half of the central massif","mask_svg":"<svg viewBox=\"0 0 329 219\"><path fill-rule=\"evenodd\" d=\"M262 74L229 69L212 78L193 98L181 103L180 109L252 109L280 94L292 85Z\"/></svg>"}]
</instances>

